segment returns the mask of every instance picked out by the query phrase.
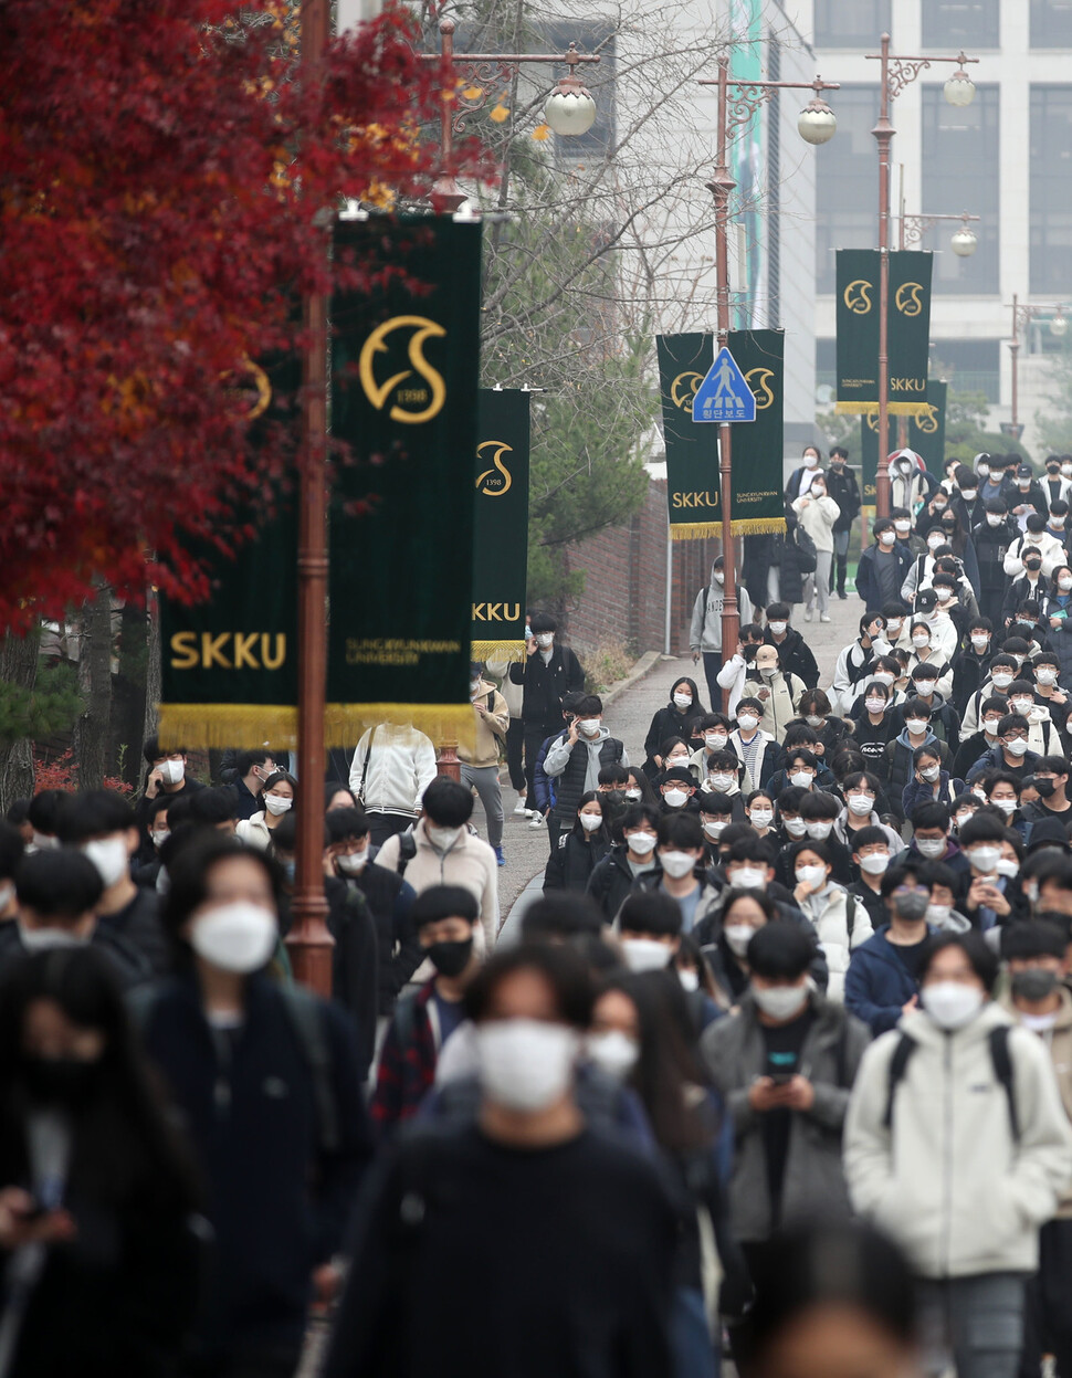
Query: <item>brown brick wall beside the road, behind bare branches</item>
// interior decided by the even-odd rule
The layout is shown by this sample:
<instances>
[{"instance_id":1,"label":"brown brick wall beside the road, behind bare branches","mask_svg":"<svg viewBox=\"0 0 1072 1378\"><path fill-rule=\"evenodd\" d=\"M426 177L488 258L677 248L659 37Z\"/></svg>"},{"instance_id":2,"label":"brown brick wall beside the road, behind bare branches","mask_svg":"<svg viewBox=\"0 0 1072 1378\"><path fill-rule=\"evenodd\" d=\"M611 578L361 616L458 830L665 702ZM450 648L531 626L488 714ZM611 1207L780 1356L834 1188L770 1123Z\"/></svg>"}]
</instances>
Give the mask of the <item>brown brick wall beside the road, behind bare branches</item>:
<instances>
[{"instance_id":1,"label":"brown brick wall beside the road, behind bare branches","mask_svg":"<svg viewBox=\"0 0 1072 1378\"><path fill-rule=\"evenodd\" d=\"M708 583L719 542L672 543L671 653L689 649L689 620L696 594ZM584 594L568 610L566 631L579 650L617 639L631 650L663 650L667 590L667 492L652 480L643 506L624 526L608 526L566 546L569 569L584 570Z\"/></svg>"}]
</instances>

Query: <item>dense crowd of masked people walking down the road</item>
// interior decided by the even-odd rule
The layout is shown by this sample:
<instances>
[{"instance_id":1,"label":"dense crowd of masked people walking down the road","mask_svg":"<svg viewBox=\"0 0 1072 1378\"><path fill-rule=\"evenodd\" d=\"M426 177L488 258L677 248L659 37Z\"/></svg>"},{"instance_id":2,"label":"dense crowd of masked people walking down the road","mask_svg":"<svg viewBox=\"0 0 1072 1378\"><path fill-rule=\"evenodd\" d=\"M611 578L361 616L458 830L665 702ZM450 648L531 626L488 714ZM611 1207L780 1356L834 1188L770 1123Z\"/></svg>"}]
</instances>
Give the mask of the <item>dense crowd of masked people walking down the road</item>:
<instances>
[{"instance_id":1,"label":"dense crowd of masked people walking down the road","mask_svg":"<svg viewBox=\"0 0 1072 1378\"><path fill-rule=\"evenodd\" d=\"M642 743L533 612L460 780L383 723L327 783L149 741L135 805L8 810L3 1378L289 1378L316 1315L328 1378L1072 1378L1072 459L898 456L824 672L831 459L781 537L829 558L732 655L717 561Z\"/></svg>"}]
</instances>

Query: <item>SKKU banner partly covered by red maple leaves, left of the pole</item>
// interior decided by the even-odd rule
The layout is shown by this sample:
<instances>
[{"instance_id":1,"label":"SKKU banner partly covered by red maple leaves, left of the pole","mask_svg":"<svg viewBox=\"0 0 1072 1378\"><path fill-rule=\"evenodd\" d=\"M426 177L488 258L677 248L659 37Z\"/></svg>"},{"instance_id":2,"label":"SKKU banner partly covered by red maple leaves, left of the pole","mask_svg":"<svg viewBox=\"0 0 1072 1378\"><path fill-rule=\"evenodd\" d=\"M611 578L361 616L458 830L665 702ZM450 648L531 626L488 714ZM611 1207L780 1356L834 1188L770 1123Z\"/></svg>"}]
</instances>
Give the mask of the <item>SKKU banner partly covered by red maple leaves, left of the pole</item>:
<instances>
[{"instance_id":1,"label":"SKKU banner partly covered by red maple leaves, left of the pole","mask_svg":"<svg viewBox=\"0 0 1072 1378\"><path fill-rule=\"evenodd\" d=\"M298 427L295 360L251 368L251 440L269 427ZM282 398L280 401L278 398ZM178 747L298 744L298 495L295 475L276 486L274 514L234 513L229 531L252 521L252 540L230 555L192 547L211 572L212 594L186 608L160 598L160 740Z\"/></svg>"}]
</instances>

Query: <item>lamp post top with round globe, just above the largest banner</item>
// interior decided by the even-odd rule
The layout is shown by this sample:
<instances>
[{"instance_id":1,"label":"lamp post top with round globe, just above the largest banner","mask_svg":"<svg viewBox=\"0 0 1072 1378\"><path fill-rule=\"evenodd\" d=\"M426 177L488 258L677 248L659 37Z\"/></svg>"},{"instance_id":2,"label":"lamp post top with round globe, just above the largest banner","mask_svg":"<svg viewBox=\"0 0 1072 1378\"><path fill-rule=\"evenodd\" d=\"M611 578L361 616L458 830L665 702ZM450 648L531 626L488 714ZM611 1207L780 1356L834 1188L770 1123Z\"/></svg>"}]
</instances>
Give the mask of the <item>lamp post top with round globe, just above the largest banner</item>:
<instances>
[{"instance_id":1,"label":"lamp post top with round globe, just above the largest banner","mask_svg":"<svg viewBox=\"0 0 1072 1378\"><path fill-rule=\"evenodd\" d=\"M440 21L440 37L442 52L422 54L422 62L448 62L453 72L466 77L471 87L480 94L466 101L456 110L453 92L441 92L442 110L440 113L440 174L431 189L433 208L440 214L453 214L466 200L455 181L453 171L453 136L466 127L466 120L482 110L493 87L508 85L518 74L522 63L529 62L564 62L569 72L561 77L555 88L547 96L543 107L543 117L551 130L564 138L576 138L587 134L595 121L595 101L591 92L583 85L577 76L577 63L598 62L598 52L577 52L577 45L570 43L562 54L548 52L455 52L455 30L457 25L453 19Z\"/></svg>"}]
</instances>

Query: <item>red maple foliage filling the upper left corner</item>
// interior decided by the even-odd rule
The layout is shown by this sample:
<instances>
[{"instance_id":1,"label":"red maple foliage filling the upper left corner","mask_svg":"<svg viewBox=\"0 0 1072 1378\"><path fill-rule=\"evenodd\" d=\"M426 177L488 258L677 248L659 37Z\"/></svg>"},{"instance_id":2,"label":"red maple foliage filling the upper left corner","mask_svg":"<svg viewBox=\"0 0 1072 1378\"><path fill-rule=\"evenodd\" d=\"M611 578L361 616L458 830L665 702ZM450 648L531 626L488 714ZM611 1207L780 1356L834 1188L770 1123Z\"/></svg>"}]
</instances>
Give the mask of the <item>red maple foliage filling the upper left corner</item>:
<instances>
[{"instance_id":1,"label":"red maple foliage filling the upper left corner","mask_svg":"<svg viewBox=\"0 0 1072 1378\"><path fill-rule=\"evenodd\" d=\"M427 185L442 73L401 7L307 83L280 0L19 0L0 36L0 628L95 579L203 595L187 543L293 456L236 394L340 270L316 212Z\"/></svg>"}]
</instances>

